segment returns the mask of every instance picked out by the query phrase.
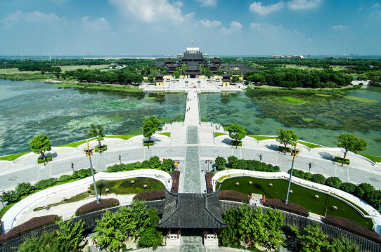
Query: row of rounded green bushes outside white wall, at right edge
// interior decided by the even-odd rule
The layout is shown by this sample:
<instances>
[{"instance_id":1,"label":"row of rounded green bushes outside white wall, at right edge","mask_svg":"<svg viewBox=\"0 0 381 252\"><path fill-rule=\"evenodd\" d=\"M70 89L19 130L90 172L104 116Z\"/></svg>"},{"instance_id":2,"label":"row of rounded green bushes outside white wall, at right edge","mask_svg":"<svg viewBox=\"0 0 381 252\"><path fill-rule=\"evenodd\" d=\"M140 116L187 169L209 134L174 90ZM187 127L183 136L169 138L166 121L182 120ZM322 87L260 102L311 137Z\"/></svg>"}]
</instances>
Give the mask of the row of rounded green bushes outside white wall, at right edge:
<instances>
[{"instance_id":1,"label":"row of rounded green bushes outside white wall, at right edge","mask_svg":"<svg viewBox=\"0 0 381 252\"><path fill-rule=\"evenodd\" d=\"M291 169L288 170L289 174L290 172ZM347 182L342 183L342 180L340 180L340 178L337 177L330 177L326 179L322 174L316 173L312 175L311 173L305 173L304 171L300 171L297 169L294 169L292 175L294 175L297 178L302 178L304 180L309 180L322 185L328 185L330 187L334 187L344 192L353 194L354 196L363 199L363 201L368 202L368 204L370 204L376 209L378 209L378 207L381 205L381 190L376 190L375 187L373 187L373 185L370 185L368 183L361 183L359 185Z\"/></svg>"}]
</instances>

